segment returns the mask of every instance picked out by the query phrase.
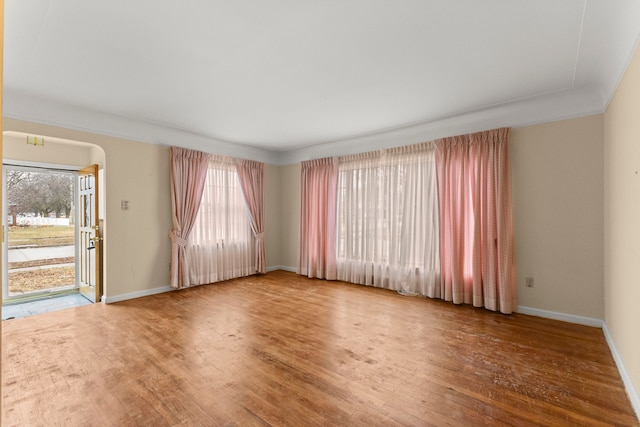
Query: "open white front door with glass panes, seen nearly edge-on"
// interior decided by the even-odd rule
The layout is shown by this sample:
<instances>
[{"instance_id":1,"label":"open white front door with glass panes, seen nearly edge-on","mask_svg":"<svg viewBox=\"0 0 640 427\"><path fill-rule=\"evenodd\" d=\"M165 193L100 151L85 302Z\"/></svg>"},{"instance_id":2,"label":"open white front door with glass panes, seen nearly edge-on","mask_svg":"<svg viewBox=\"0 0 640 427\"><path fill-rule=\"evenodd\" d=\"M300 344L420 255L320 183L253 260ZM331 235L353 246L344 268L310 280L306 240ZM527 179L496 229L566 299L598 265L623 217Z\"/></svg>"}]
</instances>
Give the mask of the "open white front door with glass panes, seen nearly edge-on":
<instances>
[{"instance_id":1,"label":"open white front door with glass panes, seen nearly edge-on","mask_svg":"<svg viewBox=\"0 0 640 427\"><path fill-rule=\"evenodd\" d=\"M101 230L98 222L98 165L78 171L79 209L79 280L80 292L93 302L100 301Z\"/></svg>"}]
</instances>

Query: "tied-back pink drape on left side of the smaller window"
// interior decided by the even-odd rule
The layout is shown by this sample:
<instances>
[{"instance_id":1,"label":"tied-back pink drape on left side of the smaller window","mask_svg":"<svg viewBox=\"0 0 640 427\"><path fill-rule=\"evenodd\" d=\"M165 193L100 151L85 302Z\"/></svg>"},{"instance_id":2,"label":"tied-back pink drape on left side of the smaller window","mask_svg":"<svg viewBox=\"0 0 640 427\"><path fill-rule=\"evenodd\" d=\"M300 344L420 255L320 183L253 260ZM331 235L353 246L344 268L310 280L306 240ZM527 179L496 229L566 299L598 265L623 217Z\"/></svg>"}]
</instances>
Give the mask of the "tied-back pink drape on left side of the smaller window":
<instances>
[{"instance_id":1,"label":"tied-back pink drape on left side of the smaller window","mask_svg":"<svg viewBox=\"0 0 640 427\"><path fill-rule=\"evenodd\" d=\"M186 246L198 214L210 155L186 148L169 150L171 177L171 278L173 288L189 286Z\"/></svg>"}]
</instances>

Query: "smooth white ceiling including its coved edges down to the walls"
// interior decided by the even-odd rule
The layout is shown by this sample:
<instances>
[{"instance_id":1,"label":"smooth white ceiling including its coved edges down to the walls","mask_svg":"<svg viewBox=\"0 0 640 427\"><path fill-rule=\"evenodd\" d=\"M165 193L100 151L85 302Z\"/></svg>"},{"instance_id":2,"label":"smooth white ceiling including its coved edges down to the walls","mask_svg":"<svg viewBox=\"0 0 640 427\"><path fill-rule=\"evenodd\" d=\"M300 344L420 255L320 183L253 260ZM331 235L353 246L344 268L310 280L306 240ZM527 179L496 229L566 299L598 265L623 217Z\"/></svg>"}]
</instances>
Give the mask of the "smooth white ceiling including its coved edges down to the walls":
<instances>
[{"instance_id":1,"label":"smooth white ceiling including its coved edges down to the walls","mask_svg":"<svg viewBox=\"0 0 640 427\"><path fill-rule=\"evenodd\" d=\"M5 0L4 110L328 155L600 113L639 33L639 0Z\"/></svg>"}]
</instances>

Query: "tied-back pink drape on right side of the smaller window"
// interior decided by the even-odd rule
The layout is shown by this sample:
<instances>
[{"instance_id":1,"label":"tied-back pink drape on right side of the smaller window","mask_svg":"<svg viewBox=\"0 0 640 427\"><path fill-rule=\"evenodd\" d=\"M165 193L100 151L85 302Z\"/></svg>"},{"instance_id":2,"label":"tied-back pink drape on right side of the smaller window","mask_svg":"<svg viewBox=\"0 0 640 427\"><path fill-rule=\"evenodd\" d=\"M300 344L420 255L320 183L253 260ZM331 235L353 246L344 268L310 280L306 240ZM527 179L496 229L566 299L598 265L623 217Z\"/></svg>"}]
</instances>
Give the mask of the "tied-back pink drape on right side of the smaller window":
<instances>
[{"instance_id":1,"label":"tied-back pink drape on right side of the smaller window","mask_svg":"<svg viewBox=\"0 0 640 427\"><path fill-rule=\"evenodd\" d=\"M253 160L236 159L236 169L242 194L247 202L251 229L256 239L256 271L267 272L264 245L264 164Z\"/></svg>"}]
</instances>

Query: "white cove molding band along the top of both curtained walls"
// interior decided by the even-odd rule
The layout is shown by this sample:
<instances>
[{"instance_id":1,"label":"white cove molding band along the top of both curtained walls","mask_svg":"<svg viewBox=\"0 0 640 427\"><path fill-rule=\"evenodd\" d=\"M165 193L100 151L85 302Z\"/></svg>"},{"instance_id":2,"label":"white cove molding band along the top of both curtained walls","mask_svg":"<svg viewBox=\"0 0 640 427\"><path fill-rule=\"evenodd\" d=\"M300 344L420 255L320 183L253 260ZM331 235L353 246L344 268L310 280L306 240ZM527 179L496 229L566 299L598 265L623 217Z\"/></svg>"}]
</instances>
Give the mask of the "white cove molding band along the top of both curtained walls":
<instances>
[{"instance_id":1,"label":"white cove molding band along the top of both curtained walls","mask_svg":"<svg viewBox=\"0 0 640 427\"><path fill-rule=\"evenodd\" d=\"M289 150L236 144L162 124L86 110L5 90L7 118L69 128L132 141L178 146L282 166L314 158L361 153L430 141L499 127L523 127L604 111L602 96L590 90L567 90L424 123L358 135Z\"/></svg>"}]
</instances>

